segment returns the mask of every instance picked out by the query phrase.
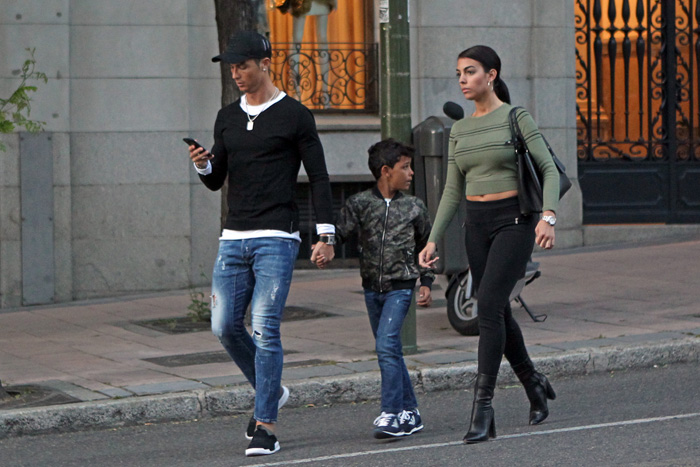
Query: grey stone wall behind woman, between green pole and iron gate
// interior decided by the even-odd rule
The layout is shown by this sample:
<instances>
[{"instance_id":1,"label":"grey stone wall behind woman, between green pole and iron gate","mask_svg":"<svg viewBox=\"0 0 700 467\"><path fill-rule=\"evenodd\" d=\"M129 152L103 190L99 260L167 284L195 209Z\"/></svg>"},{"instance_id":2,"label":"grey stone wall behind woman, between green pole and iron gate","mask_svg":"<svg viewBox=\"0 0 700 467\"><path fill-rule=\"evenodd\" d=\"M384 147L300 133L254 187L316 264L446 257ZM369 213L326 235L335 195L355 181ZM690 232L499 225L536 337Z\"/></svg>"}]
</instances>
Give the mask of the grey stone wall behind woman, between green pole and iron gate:
<instances>
[{"instance_id":1,"label":"grey stone wall behind woman, between green pole and iron gate","mask_svg":"<svg viewBox=\"0 0 700 467\"><path fill-rule=\"evenodd\" d=\"M530 111L574 182L557 213L557 246L581 245L574 2L412 0L410 6L413 122L443 115L450 100L471 113L455 78L457 56L472 45L492 47L512 103Z\"/></svg>"}]
</instances>

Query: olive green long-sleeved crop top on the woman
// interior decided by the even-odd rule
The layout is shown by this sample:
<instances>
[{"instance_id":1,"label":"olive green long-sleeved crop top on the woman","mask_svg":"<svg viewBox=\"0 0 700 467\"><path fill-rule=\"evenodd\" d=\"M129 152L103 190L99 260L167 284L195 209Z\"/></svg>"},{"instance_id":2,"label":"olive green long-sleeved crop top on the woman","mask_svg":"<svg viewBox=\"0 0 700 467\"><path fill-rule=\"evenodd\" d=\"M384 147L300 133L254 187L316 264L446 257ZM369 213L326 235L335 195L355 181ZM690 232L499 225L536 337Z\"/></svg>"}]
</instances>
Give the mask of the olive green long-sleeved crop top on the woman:
<instances>
[{"instance_id":1,"label":"olive green long-sleeved crop top on the woman","mask_svg":"<svg viewBox=\"0 0 700 467\"><path fill-rule=\"evenodd\" d=\"M466 117L452 126L445 189L429 241L442 238L465 194L486 195L518 189L518 168L508 123L511 108L503 104L486 115ZM544 178L542 210L556 212L557 168L530 114L518 110L517 118L530 154Z\"/></svg>"}]
</instances>

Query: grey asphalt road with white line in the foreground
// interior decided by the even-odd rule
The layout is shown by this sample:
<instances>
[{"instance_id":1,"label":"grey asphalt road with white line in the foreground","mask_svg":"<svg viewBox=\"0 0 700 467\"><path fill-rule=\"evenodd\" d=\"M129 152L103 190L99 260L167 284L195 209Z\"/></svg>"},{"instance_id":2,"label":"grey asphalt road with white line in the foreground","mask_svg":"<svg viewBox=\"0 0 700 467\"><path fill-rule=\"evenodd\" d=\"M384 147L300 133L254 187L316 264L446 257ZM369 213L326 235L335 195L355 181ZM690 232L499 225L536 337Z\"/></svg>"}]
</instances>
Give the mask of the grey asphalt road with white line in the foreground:
<instances>
[{"instance_id":1,"label":"grey asphalt road with white line in the foreground","mask_svg":"<svg viewBox=\"0 0 700 467\"><path fill-rule=\"evenodd\" d=\"M246 458L249 414L0 440L2 466L700 466L696 364L552 381L550 417L527 425L521 387L499 388L498 438L463 445L471 390L419 394L425 430L372 438L377 402L283 409L282 450Z\"/></svg>"}]
</instances>

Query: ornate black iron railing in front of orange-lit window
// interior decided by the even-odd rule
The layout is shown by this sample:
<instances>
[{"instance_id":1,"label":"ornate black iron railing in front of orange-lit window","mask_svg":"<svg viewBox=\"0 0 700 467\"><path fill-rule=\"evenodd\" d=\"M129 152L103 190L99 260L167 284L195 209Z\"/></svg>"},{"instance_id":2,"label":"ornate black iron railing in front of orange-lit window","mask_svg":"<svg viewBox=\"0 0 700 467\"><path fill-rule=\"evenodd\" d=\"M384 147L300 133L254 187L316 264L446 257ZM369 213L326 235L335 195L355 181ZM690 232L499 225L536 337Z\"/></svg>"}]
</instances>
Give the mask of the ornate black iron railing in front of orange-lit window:
<instances>
[{"instance_id":1,"label":"ornate black iron railing in front of orange-lit window","mask_svg":"<svg viewBox=\"0 0 700 467\"><path fill-rule=\"evenodd\" d=\"M272 44L272 78L314 111L377 113L377 44Z\"/></svg>"}]
</instances>

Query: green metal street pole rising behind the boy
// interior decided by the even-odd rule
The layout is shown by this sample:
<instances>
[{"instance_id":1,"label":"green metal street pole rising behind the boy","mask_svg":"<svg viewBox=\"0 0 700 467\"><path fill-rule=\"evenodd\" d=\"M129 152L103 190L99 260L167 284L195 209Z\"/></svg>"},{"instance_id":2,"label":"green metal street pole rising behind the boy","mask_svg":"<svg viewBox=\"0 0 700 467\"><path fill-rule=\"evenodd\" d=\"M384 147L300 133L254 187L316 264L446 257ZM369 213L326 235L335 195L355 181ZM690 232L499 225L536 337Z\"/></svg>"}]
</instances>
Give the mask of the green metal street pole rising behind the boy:
<instances>
[{"instance_id":1,"label":"green metal street pole rising behind the boy","mask_svg":"<svg viewBox=\"0 0 700 467\"><path fill-rule=\"evenodd\" d=\"M408 0L379 0L380 51L382 66L379 106L382 139L411 142L411 64L409 51ZM418 352L416 344L416 299L413 298L401 328L403 353Z\"/></svg>"}]
</instances>

